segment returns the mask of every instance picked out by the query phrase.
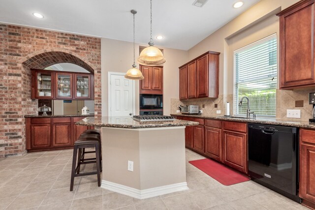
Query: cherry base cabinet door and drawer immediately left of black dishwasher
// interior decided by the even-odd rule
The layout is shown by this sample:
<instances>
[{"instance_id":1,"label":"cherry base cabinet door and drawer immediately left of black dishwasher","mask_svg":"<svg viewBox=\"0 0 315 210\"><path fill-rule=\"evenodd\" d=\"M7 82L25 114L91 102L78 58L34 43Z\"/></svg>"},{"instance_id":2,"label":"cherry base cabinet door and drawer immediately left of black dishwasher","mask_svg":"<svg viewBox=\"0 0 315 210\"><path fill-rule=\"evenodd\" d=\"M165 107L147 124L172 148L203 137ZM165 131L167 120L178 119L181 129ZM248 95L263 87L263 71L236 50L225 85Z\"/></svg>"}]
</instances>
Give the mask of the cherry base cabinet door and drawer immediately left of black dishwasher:
<instances>
[{"instance_id":1,"label":"cherry base cabinet door and drawer immediately left of black dishwasher","mask_svg":"<svg viewBox=\"0 0 315 210\"><path fill-rule=\"evenodd\" d=\"M223 121L222 161L247 173L247 123Z\"/></svg>"}]
</instances>

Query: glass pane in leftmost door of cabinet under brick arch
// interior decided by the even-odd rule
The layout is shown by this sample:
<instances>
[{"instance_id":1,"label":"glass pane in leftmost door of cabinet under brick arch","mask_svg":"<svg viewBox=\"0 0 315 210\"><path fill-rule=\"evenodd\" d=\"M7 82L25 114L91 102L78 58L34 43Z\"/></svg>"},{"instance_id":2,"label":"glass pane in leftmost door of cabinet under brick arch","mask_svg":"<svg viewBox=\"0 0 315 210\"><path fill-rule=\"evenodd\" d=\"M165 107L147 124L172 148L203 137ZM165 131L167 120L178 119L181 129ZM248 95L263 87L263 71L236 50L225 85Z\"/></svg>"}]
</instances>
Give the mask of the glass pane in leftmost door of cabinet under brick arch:
<instances>
[{"instance_id":1,"label":"glass pane in leftmost door of cabinet under brick arch","mask_svg":"<svg viewBox=\"0 0 315 210\"><path fill-rule=\"evenodd\" d=\"M51 97L52 96L52 74L38 72L36 83L36 94L39 97Z\"/></svg>"}]
</instances>

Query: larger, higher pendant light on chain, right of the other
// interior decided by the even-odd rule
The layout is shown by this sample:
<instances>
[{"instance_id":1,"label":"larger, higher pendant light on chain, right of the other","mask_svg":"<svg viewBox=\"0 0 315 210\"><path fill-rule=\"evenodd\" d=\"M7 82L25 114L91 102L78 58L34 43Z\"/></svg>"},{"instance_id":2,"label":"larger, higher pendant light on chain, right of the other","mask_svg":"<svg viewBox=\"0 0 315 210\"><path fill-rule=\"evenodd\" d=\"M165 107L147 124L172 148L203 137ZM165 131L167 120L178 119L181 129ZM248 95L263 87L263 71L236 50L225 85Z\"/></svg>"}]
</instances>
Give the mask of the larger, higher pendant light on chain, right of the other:
<instances>
[{"instance_id":1,"label":"larger, higher pendant light on chain, right of the other","mask_svg":"<svg viewBox=\"0 0 315 210\"><path fill-rule=\"evenodd\" d=\"M151 30L150 30L150 42L149 46L144 48L140 56L138 58L138 63L142 65L160 65L164 63L166 60L162 54L162 52L154 47L153 39L152 39L152 0L150 0L150 14L151 14Z\"/></svg>"}]
</instances>

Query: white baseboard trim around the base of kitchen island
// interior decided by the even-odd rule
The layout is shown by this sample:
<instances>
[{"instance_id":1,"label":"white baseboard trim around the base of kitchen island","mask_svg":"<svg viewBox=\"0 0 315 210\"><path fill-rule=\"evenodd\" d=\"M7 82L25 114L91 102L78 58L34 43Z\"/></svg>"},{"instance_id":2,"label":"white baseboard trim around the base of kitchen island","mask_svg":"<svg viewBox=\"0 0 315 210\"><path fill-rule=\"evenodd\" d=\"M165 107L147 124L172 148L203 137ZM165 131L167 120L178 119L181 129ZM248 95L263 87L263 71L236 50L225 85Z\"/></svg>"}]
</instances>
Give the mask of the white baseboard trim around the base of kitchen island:
<instances>
[{"instance_id":1,"label":"white baseboard trim around the base of kitchen island","mask_svg":"<svg viewBox=\"0 0 315 210\"><path fill-rule=\"evenodd\" d=\"M131 196L137 199L151 198L159 195L164 195L172 192L178 192L188 190L187 182L181 182L176 184L169 184L159 187L153 187L149 189L139 190L132 187L128 187L122 184L117 184L111 181L102 180L101 188L108 189L114 192L118 192L127 196Z\"/></svg>"}]
</instances>

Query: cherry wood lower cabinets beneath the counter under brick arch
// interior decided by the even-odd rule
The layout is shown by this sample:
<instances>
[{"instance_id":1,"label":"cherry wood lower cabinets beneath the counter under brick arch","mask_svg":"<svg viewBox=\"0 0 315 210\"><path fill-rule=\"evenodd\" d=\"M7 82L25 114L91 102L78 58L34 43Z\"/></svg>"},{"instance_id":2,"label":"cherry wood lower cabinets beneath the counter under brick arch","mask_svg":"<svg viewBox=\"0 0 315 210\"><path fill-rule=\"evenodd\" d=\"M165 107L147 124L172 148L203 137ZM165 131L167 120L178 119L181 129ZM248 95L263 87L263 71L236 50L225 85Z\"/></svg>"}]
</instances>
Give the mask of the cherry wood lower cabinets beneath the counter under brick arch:
<instances>
[{"instance_id":1,"label":"cherry wood lower cabinets beneath the counter under brick arch","mask_svg":"<svg viewBox=\"0 0 315 210\"><path fill-rule=\"evenodd\" d=\"M26 118L27 150L71 148L78 137L94 126L76 125L85 117Z\"/></svg>"}]
</instances>

